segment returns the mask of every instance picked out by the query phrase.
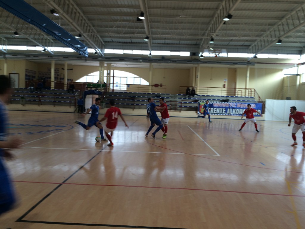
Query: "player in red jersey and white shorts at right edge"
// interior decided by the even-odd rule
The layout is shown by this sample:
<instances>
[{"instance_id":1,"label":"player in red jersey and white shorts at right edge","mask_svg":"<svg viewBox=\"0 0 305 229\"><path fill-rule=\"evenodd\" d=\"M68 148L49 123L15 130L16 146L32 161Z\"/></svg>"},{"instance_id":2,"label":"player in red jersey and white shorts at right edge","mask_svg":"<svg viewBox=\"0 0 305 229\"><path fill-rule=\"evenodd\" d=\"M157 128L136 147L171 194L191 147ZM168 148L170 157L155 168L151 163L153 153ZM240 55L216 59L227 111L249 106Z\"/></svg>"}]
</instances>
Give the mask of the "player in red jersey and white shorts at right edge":
<instances>
[{"instance_id":1,"label":"player in red jersey and white shorts at right edge","mask_svg":"<svg viewBox=\"0 0 305 229\"><path fill-rule=\"evenodd\" d=\"M294 125L292 127L292 139L294 140L294 143L291 146L297 145L296 132L298 132L299 129L301 129L301 131L303 133L303 147L305 148L305 129L304 129L305 119L304 119L304 116L305 116L304 112L296 111L296 107L290 107L288 126L290 126L290 124L291 124L291 118L294 119Z\"/></svg>"}]
</instances>

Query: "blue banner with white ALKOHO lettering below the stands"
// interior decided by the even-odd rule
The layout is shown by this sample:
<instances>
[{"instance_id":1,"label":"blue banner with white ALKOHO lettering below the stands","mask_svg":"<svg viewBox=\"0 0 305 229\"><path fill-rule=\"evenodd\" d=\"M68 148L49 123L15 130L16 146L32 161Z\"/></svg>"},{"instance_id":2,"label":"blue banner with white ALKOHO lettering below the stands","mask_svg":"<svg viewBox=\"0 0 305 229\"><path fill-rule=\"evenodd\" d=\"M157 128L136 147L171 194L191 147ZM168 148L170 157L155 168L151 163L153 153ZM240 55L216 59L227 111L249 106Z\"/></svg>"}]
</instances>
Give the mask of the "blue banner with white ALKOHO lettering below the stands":
<instances>
[{"instance_id":1,"label":"blue banner with white ALKOHO lettering below the stands","mask_svg":"<svg viewBox=\"0 0 305 229\"><path fill-rule=\"evenodd\" d=\"M205 101L200 101L198 103L198 111L203 114L203 105ZM262 104L261 103L246 103L246 102L210 102L209 111L211 115L235 115L235 116L242 116L242 113L247 109L247 104L251 105L251 108L257 110L262 113ZM257 113L253 114L254 116L258 117Z\"/></svg>"}]
</instances>

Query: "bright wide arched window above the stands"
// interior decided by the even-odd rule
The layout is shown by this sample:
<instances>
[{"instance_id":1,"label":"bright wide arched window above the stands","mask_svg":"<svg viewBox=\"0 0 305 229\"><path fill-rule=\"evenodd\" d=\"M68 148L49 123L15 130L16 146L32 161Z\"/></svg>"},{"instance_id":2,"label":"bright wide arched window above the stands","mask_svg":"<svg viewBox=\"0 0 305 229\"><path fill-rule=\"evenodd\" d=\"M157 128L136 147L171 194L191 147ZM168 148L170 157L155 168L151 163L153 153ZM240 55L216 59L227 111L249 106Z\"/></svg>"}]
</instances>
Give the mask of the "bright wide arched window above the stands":
<instances>
[{"instance_id":1,"label":"bright wide arched window above the stands","mask_svg":"<svg viewBox=\"0 0 305 229\"><path fill-rule=\"evenodd\" d=\"M113 77L114 75L114 77ZM104 71L104 82L106 82L107 70ZM110 89L126 90L130 84L149 85L149 83L141 77L126 71L112 70L110 71ZM114 80L114 83L113 83ZM97 83L99 81L99 71L85 75L76 82ZM101 82L103 83L103 82Z\"/></svg>"}]
</instances>

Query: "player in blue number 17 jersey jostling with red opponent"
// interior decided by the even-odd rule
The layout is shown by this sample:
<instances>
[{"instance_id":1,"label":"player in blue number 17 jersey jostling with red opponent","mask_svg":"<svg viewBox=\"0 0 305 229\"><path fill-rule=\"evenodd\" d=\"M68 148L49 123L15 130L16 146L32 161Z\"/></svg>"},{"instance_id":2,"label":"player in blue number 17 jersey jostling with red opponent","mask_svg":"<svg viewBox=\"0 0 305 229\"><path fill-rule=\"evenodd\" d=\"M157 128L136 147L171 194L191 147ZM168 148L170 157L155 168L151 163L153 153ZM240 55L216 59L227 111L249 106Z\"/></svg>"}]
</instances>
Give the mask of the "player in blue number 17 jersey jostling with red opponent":
<instances>
[{"instance_id":1,"label":"player in blue number 17 jersey jostling with red opponent","mask_svg":"<svg viewBox=\"0 0 305 229\"><path fill-rule=\"evenodd\" d=\"M163 111L164 108L161 107L157 107L156 104L153 102L153 98L148 98L147 100L149 102L149 104L147 105L147 114L149 114L149 120L150 120L150 127L147 131L147 133L145 134L145 136L147 137L149 132L152 130L152 128L155 126L155 124L158 125L157 129L151 134L152 137L154 139L156 139L156 133L162 129L163 125L160 121L160 119L158 118L157 115L157 111Z\"/></svg>"}]
</instances>

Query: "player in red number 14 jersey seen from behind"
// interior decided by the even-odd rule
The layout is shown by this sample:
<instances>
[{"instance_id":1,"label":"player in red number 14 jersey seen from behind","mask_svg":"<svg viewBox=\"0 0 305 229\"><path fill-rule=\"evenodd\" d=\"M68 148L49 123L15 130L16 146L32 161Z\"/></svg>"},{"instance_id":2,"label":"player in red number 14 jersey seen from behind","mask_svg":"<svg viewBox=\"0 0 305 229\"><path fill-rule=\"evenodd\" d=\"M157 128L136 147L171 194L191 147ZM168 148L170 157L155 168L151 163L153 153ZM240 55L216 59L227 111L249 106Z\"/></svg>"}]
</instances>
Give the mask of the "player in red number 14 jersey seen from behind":
<instances>
[{"instance_id":1,"label":"player in red number 14 jersey seen from behind","mask_svg":"<svg viewBox=\"0 0 305 229\"><path fill-rule=\"evenodd\" d=\"M125 119L124 119L120 109L118 107L114 106L114 100L110 100L109 104L110 104L110 108L106 111L104 117L101 120L99 120L99 122L102 122L107 119L106 128L104 129L105 134L106 134L108 140L110 141L110 143L107 146L113 146L113 142L112 142L111 138L112 138L114 129L117 127L118 115L120 115L120 117L122 118L123 122L125 123L125 126L127 128L129 128L129 127L128 127L127 123L125 122ZM109 135L109 133L111 136Z\"/></svg>"}]
</instances>

